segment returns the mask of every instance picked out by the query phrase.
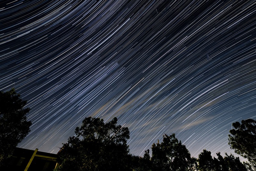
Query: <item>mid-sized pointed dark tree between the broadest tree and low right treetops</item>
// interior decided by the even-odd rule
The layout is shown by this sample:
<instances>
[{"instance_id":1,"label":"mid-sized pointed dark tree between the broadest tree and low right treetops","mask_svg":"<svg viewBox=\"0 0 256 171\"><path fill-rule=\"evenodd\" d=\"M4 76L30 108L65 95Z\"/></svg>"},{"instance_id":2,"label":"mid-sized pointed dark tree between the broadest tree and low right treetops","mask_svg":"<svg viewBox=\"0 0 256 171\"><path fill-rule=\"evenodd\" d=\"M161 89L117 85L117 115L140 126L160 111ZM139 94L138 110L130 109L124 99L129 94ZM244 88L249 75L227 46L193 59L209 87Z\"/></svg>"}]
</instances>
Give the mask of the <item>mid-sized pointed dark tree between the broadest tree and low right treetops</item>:
<instances>
[{"instance_id":1,"label":"mid-sized pointed dark tree between the broadest tree and low right treetops","mask_svg":"<svg viewBox=\"0 0 256 171\"><path fill-rule=\"evenodd\" d=\"M188 170L191 156L185 145L181 144L175 134L164 135L163 142L152 145L153 170Z\"/></svg>"}]
</instances>

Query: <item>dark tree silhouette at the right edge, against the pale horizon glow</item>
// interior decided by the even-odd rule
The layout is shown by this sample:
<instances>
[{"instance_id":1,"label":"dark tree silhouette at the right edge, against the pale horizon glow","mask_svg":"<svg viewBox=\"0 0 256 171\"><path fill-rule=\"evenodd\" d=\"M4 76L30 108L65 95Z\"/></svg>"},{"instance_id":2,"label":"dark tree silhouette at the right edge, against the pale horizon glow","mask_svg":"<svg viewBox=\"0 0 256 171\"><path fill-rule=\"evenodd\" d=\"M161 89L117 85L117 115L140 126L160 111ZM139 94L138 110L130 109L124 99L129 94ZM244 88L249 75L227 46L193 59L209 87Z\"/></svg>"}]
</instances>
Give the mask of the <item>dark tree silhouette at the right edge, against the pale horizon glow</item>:
<instances>
[{"instance_id":1,"label":"dark tree silhouette at the right edge, against the pale horizon glow","mask_svg":"<svg viewBox=\"0 0 256 171\"><path fill-rule=\"evenodd\" d=\"M230 148L256 167L256 120L242 120L241 123L235 122L232 125L234 129L228 135Z\"/></svg>"}]
</instances>

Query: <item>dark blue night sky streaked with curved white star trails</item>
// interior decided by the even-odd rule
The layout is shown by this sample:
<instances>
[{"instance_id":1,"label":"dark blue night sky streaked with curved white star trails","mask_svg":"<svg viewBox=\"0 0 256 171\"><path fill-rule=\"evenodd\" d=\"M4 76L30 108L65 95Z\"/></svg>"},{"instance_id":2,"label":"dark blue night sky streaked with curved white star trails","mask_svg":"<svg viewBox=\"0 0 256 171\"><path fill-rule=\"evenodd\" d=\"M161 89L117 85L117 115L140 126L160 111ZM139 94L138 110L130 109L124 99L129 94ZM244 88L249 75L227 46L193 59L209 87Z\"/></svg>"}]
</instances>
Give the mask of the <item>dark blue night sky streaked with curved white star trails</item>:
<instances>
[{"instance_id":1,"label":"dark blue night sky streaked with curved white star trails","mask_svg":"<svg viewBox=\"0 0 256 171\"><path fill-rule=\"evenodd\" d=\"M143 155L175 133L192 156L230 154L256 120L256 2L0 2L0 91L27 100L21 148L57 153L85 117L128 127Z\"/></svg>"}]
</instances>

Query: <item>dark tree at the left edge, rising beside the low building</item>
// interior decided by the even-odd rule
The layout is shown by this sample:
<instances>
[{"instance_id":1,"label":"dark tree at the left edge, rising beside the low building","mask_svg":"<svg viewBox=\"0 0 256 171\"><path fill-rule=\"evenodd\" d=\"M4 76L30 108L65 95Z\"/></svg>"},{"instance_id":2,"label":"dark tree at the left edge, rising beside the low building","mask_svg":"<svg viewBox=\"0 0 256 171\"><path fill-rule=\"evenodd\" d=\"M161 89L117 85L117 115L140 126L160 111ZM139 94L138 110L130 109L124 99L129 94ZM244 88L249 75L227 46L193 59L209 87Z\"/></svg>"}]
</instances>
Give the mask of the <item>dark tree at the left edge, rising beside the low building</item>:
<instances>
[{"instance_id":1,"label":"dark tree at the left edge, rising beside the low building","mask_svg":"<svg viewBox=\"0 0 256 171\"><path fill-rule=\"evenodd\" d=\"M14 88L0 91L0 165L30 131L31 121L26 117L30 109L24 108L26 103Z\"/></svg>"}]
</instances>

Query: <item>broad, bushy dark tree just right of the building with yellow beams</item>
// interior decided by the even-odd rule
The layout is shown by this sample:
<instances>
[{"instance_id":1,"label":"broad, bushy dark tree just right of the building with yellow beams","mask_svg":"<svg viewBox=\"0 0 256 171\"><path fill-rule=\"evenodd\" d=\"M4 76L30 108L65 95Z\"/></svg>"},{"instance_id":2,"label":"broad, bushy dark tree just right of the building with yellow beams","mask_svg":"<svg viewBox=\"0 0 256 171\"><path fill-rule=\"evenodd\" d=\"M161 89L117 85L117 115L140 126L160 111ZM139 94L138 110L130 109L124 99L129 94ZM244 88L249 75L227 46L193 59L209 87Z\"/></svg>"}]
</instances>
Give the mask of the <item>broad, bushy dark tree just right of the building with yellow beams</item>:
<instances>
[{"instance_id":1,"label":"broad, bushy dark tree just right of the building with yellow beams","mask_svg":"<svg viewBox=\"0 0 256 171\"><path fill-rule=\"evenodd\" d=\"M117 118L106 124L100 118L85 118L76 136L63 144L56 170L127 170L130 132L116 123Z\"/></svg>"}]
</instances>

